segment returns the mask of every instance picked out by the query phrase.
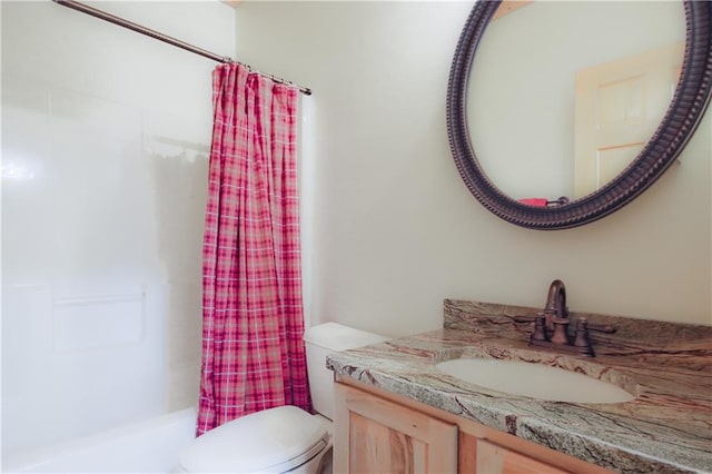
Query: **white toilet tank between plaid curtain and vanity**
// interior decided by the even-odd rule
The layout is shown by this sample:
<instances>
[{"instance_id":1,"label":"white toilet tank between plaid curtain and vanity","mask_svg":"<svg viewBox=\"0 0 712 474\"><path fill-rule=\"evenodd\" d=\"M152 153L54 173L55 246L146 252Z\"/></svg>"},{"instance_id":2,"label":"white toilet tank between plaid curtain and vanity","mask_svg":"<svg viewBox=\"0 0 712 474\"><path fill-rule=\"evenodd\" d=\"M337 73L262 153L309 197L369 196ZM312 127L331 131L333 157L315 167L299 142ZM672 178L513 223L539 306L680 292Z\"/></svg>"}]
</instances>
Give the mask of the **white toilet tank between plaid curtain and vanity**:
<instances>
[{"instance_id":1,"label":"white toilet tank between plaid curtain and vanity","mask_svg":"<svg viewBox=\"0 0 712 474\"><path fill-rule=\"evenodd\" d=\"M388 337L338 323L324 323L307 328L304 342L307 352L307 373L314 409L334 419L334 373L326 368L326 356L387 340Z\"/></svg>"}]
</instances>

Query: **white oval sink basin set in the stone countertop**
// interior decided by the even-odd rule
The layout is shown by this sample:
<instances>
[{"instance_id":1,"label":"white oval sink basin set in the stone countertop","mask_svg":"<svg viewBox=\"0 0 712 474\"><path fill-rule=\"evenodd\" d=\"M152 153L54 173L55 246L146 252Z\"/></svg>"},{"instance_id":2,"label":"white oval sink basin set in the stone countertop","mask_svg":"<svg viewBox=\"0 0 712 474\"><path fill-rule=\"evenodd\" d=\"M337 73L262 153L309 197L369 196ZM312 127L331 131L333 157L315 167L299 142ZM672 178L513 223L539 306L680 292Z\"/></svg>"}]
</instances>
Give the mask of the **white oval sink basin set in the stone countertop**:
<instances>
[{"instance_id":1,"label":"white oval sink basin set in the stone countertop","mask_svg":"<svg viewBox=\"0 0 712 474\"><path fill-rule=\"evenodd\" d=\"M609 382L543 364L490 358L456 358L437 369L473 385L551 402L623 403L635 397Z\"/></svg>"}]
</instances>

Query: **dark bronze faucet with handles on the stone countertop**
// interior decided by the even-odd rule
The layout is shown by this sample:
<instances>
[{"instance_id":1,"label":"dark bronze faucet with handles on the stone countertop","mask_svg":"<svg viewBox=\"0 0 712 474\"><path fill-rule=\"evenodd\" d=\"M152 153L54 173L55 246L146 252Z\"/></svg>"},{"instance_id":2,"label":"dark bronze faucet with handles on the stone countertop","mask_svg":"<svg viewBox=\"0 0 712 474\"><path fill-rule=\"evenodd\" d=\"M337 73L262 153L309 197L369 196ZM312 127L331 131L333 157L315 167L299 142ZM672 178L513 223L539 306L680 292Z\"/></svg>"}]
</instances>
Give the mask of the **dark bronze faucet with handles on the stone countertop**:
<instances>
[{"instance_id":1,"label":"dark bronze faucet with handles on the stone countertop","mask_svg":"<svg viewBox=\"0 0 712 474\"><path fill-rule=\"evenodd\" d=\"M581 354L593 357L593 346L589 339L589 329L614 333L613 326L589 325L584 317L576 320L574 337L568 336L568 308L566 307L566 286L555 279L548 287L544 310L534 318L534 330L530 346L547 347L557 352Z\"/></svg>"}]
</instances>

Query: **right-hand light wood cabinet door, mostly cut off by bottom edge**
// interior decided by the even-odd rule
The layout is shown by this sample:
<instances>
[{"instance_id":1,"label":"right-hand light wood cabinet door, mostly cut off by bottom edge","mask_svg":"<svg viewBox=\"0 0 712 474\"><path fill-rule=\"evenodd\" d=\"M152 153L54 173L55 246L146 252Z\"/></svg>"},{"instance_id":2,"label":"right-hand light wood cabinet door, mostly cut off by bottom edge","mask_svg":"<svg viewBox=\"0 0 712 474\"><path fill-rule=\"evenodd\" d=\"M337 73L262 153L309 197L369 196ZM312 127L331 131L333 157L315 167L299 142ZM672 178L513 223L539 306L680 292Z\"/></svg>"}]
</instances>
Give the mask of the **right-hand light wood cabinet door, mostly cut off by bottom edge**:
<instances>
[{"instance_id":1,"label":"right-hand light wood cabinet door, mostly cut off by bottom edge","mask_svg":"<svg viewBox=\"0 0 712 474\"><path fill-rule=\"evenodd\" d=\"M524 454L497 446L484 440L477 440L475 472L477 474L567 474L550 464L525 456Z\"/></svg>"}]
</instances>

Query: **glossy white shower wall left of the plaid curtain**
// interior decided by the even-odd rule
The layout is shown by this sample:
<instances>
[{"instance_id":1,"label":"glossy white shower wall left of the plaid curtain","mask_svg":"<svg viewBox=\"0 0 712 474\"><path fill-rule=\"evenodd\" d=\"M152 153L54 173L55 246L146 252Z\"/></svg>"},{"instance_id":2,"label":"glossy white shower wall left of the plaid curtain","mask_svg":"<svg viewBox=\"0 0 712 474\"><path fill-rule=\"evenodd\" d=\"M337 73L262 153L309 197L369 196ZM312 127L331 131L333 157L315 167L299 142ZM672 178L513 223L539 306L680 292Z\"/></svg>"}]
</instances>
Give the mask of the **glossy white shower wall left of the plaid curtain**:
<instances>
[{"instance_id":1,"label":"glossy white shower wall left of the plaid curtain","mask_svg":"<svg viewBox=\"0 0 712 474\"><path fill-rule=\"evenodd\" d=\"M217 2L97 8L235 52ZM194 405L215 62L2 2L2 442Z\"/></svg>"}]
</instances>

